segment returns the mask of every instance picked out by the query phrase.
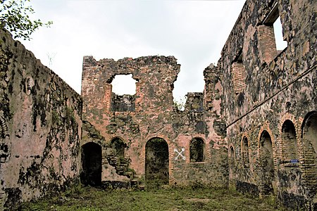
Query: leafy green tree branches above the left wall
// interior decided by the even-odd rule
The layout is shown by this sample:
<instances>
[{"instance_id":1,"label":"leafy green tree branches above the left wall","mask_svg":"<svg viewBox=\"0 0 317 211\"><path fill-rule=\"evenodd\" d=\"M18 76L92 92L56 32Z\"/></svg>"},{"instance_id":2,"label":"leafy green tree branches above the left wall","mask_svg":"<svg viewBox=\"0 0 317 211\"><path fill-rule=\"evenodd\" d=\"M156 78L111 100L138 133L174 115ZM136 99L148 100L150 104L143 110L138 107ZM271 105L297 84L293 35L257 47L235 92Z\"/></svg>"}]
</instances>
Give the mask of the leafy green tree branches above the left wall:
<instances>
[{"instance_id":1,"label":"leafy green tree branches above the left wall","mask_svg":"<svg viewBox=\"0 0 317 211\"><path fill-rule=\"evenodd\" d=\"M35 13L32 6L26 3L30 0L0 0L0 27L13 33L14 38L30 40L30 35L37 28L49 27L52 22L42 23L41 20L31 20L30 15Z\"/></svg>"}]
</instances>

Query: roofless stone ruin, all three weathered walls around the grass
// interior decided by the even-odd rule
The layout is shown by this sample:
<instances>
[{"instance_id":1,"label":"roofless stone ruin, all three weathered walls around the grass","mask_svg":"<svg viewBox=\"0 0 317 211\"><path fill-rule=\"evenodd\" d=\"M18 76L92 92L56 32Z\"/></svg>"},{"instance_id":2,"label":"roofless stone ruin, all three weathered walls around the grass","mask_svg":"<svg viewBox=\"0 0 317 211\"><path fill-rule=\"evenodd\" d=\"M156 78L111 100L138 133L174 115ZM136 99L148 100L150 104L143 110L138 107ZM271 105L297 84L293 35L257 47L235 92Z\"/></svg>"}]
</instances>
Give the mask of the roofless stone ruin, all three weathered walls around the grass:
<instances>
[{"instance_id":1,"label":"roofless stone ruin, all three weathered walls around the grass","mask_svg":"<svg viewBox=\"0 0 317 211\"><path fill-rule=\"evenodd\" d=\"M273 193L293 210L317 208L317 4L247 0L204 93L173 106L173 56L85 56L80 96L0 31L0 202L89 185L161 179ZM280 16L287 48L278 51ZM135 95L112 93L116 75ZM85 121L81 121L81 115ZM82 130L81 130L82 127ZM82 166L82 170L80 170Z\"/></svg>"}]
</instances>

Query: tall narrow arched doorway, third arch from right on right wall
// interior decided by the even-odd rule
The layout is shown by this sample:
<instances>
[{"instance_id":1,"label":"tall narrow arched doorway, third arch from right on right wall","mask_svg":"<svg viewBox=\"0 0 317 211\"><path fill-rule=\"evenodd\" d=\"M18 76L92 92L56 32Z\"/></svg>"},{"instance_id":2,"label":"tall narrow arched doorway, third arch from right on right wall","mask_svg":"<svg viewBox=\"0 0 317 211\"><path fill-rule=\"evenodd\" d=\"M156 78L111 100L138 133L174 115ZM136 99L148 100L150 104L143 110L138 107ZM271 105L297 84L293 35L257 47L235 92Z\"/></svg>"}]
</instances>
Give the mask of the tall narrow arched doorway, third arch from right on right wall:
<instances>
[{"instance_id":1,"label":"tall narrow arched doorway, third arch from right on right wall","mask_svg":"<svg viewBox=\"0 0 317 211\"><path fill-rule=\"evenodd\" d=\"M259 147L259 165L261 168L260 195L265 196L273 193L274 180L272 140L270 134L268 134L267 131L262 132Z\"/></svg>"}]
</instances>

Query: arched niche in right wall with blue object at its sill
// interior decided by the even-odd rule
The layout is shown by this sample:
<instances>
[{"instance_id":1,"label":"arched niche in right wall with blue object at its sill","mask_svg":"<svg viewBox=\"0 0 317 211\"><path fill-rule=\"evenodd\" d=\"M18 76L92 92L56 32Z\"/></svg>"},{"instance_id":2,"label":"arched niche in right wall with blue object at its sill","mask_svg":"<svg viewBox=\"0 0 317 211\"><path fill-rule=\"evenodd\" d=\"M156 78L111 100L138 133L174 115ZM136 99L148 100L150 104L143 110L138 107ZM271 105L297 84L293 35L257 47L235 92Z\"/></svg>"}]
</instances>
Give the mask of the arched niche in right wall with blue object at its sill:
<instances>
[{"instance_id":1,"label":"arched niche in right wall with blue object at its sill","mask_svg":"<svg viewBox=\"0 0 317 211\"><path fill-rule=\"evenodd\" d=\"M283 154L286 160L299 159L296 141L296 129L292 121L286 120L282 125Z\"/></svg>"}]
</instances>

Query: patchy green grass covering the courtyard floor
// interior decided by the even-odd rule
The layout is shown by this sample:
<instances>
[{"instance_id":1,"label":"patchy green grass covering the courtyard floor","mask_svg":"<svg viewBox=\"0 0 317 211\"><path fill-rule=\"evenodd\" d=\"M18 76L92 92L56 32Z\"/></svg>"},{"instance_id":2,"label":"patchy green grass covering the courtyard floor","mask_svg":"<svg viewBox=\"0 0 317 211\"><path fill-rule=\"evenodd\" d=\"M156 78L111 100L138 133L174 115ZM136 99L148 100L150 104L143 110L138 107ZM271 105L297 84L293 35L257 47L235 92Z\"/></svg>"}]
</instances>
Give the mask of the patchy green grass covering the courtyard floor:
<instances>
[{"instance_id":1,"label":"patchy green grass covering the courtyard floor","mask_svg":"<svg viewBox=\"0 0 317 211\"><path fill-rule=\"evenodd\" d=\"M101 190L74 186L61 196L25 203L21 210L282 210L273 198L259 199L232 189L192 186Z\"/></svg>"}]
</instances>

